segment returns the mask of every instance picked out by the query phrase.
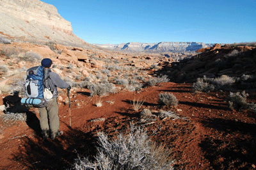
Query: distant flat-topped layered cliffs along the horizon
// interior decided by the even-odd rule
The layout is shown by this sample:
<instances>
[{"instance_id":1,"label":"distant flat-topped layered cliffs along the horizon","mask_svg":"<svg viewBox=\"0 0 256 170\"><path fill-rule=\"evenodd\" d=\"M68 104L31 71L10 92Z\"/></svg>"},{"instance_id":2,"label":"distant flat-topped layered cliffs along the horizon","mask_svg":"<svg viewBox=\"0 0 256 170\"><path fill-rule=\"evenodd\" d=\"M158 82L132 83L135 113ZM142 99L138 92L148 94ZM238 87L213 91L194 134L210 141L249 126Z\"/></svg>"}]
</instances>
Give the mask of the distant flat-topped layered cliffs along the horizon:
<instances>
[{"instance_id":1,"label":"distant flat-topped layered cliffs along the horizon","mask_svg":"<svg viewBox=\"0 0 256 170\"><path fill-rule=\"evenodd\" d=\"M95 44L100 47L114 50L125 50L131 52L167 52L167 51L195 51L198 49L212 47L212 43L200 42L159 42L159 43L120 43L117 44Z\"/></svg>"}]
</instances>

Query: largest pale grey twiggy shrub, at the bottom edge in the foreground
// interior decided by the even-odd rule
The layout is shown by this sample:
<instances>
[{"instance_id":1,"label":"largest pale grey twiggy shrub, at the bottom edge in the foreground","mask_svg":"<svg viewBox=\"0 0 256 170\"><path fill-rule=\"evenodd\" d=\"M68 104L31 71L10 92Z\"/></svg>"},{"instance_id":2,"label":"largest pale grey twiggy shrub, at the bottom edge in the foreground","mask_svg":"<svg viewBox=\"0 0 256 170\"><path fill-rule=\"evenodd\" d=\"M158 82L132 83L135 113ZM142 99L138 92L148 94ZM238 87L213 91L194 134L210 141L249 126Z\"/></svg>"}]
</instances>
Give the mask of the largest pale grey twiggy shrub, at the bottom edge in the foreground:
<instances>
[{"instance_id":1,"label":"largest pale grey twiggy shrub, at the bottom edge in the foreground","mask_svg":"<svg viewBox=\"0 0 256 170\"><path fill-rule=\"evenodd\" d=\"M151 141L143 128L131 126L129 135L119 134L113 141L102 132L97 134L95 162L79 157L74 169L173 169L175 161L170 158L170 151Z\"/></svg>"}]
</instances>

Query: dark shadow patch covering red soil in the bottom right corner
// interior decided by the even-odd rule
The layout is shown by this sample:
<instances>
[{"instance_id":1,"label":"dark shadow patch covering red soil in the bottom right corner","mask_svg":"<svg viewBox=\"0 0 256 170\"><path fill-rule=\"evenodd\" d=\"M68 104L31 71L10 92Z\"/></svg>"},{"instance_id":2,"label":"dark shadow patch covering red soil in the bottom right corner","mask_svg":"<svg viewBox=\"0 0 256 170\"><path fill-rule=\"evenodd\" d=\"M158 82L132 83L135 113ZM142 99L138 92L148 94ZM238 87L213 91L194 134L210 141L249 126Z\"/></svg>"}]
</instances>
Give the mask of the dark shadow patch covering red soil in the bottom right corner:
<instances>
[{"instance_id":1,"label":"dark shadow patch covering red soil in the bottom right corner","mask_svg":"<svg viewBox=\"0 0 256 170\"><path fill-rule=\"evenodd\" d=\"M200 144L213 169L253 169L256 165L255 124L221 118L203 120L202 123L222 134L219 139L206 136Z\"/></svg>"}]
</instances>

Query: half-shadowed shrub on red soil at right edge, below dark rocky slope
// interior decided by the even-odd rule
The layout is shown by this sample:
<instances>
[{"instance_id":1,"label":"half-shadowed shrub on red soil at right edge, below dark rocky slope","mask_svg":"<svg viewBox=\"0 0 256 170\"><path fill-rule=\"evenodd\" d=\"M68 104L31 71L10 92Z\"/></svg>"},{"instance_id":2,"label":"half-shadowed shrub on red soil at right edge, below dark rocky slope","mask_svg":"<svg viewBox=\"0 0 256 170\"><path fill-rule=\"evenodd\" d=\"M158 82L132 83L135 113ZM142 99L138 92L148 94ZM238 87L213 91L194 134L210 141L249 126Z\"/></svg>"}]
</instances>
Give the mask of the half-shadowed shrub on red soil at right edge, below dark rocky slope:
<instances>
[{"instance_id":1,"label":"half-shadowed shrub on red soil at right edge, below dark rocky slope","mask_svg":"<svg viewBox=\"0 0 256 170\"><path fill-rule=\"evenodd\" d=\"M228 107L232 110L241 111L243 109L253 109L256 107L255 104L250 104L246 102L246 97L248 97L248 94L243 91L242 93L232 93L228 95L226 98Z\"/></svg>"}]
</instances>

